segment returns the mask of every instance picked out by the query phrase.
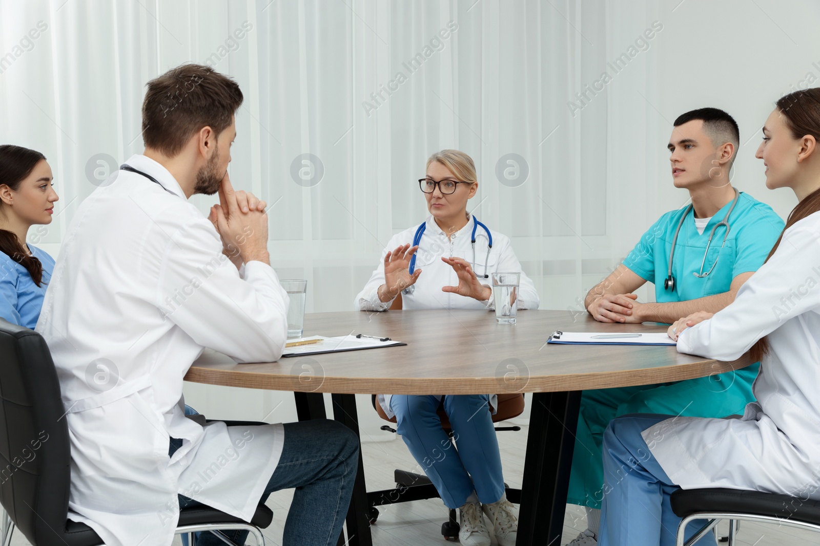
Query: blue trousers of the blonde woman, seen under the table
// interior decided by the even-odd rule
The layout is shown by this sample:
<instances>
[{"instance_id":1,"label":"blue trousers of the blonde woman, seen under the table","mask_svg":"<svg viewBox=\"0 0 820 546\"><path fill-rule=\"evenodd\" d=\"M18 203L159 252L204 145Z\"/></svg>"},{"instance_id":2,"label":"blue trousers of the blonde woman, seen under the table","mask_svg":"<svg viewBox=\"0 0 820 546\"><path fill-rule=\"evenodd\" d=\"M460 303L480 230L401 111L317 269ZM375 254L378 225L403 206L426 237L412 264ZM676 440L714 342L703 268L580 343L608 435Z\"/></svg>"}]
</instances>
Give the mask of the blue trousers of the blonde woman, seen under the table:
<instances>
[{"instance_id":1,"label":"blue trousers of the blonde woman, seen under the table","mask_svg":"<svg viewBox=\"0 0 820 546\"><path fill-rule=\"evenodd\" d=\"M473 490L481 503L504 494L499 440L490 415L489 395L444 395L444 412L453 426L453 448L435 413L440 395L393 395L396 431L435 485L448 508L458 508Z\"/></svg>"}]
</instances>

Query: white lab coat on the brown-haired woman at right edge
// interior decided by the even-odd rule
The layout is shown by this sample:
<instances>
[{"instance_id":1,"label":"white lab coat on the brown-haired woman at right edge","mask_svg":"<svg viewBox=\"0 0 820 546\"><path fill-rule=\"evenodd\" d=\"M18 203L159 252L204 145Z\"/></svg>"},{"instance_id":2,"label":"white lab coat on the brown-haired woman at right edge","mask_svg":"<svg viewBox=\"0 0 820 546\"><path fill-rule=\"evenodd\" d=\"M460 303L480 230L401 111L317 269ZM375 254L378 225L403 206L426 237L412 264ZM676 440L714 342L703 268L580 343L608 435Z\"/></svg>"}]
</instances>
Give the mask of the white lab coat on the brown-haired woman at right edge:
<instances>
[{"instance_id":1,"label":"white lab coat on the brown-haired woman at right edge","mask_svg":"<svg viewBox=\"0 0 820 546\"><path fill-rule=\"evenodd\" d=\"M768 335L742 418L676 417L644 431L683 489L727 487L820 499L820 212L791 226L734 303L681 333L677 350L718 360Z\"/></svg>"}]
</instances>

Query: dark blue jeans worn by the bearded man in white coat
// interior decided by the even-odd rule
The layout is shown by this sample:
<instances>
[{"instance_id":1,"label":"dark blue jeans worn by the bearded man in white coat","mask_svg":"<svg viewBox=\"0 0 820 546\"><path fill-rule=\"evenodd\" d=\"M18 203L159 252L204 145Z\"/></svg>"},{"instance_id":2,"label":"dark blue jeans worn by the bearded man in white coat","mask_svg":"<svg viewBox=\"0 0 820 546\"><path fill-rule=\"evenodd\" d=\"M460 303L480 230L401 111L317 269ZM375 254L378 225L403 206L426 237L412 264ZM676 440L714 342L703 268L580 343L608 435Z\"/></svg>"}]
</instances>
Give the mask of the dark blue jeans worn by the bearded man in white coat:
<instances>
[{"instance_id":1,"label":"dark blue jeans worn by the bearded man in white coat","mask_svg":"<svg viewBox=\"0 0 820 546\"><path fill-rule=\"evenodd\" d=\"M179 448L171 441L171 453ZM348 427L329 419L285 423L285 444L279 464L259 503L274 491L296 488L285 521L282 546L336 544L347 516L358 468L359 441ZM202 506L180 495L180 508ZM225 530L236 544L245 544L246 530ZM197 533L197 546L224 546L210 532ZM183 537L187 541L187 537Z\"/></svg>"}]
</instances>

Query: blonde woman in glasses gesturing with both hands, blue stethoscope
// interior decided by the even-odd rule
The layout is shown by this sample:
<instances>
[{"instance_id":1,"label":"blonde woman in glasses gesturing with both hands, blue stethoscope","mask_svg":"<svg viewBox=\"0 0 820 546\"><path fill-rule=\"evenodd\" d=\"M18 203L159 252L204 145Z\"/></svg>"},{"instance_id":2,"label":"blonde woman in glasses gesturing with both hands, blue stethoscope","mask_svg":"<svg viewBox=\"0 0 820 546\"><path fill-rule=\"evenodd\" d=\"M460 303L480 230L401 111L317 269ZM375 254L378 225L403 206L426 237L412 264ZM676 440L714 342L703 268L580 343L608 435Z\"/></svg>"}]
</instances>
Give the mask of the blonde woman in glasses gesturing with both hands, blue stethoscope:
<instances>
[{"instance_id":1,"label":"blonde woman in glasses gesturing with both hands, blue stethoscope","mask_svg":"<svg viewBox=\"0 0 820 546\"><path fill-rule=\"evenodd\" d=\"M401 309L493 310L490 275L521 273L519 309L538 309L535 285L512 251L510 240L467 212L476 195L476 166L462 151L442 150L427 160L418 181L430 216L390 239L379 267L356 296L362 311L385 311L400 298ZM390 250L392 249L392 250ZM410 453L425 469L448 508L459 508L458 538L467 546L489 546L490 520L498 544L512 546L517 516L504 494L501 455L490 411L494 395L379 395ZM457 449L441 428L443 405ZM481 411L485 408L485 411Z\"/></svg>"}]
</instances>

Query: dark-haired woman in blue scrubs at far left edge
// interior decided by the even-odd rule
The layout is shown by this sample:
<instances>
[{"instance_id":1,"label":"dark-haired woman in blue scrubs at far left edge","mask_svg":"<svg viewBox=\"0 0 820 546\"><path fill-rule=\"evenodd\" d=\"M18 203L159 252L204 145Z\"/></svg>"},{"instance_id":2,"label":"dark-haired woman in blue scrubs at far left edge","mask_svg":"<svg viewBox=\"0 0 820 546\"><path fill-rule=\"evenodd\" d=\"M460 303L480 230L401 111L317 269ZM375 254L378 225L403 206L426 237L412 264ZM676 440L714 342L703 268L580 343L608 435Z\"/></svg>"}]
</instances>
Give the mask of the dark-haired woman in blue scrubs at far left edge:
<instances>
[{"instance_id":1,"label":"dark-haired woman in blue scrubs at far left edge","mask_svg":"<svg viewBox=\"0 0 820 546\"><path fill-rule=\"evenodd\" d=\"M0 146L0 317L34 329L54 259L27 245L29 228L51 223L57 193L39 151Z\"/></svg>"}]
</instances>

